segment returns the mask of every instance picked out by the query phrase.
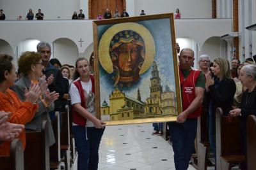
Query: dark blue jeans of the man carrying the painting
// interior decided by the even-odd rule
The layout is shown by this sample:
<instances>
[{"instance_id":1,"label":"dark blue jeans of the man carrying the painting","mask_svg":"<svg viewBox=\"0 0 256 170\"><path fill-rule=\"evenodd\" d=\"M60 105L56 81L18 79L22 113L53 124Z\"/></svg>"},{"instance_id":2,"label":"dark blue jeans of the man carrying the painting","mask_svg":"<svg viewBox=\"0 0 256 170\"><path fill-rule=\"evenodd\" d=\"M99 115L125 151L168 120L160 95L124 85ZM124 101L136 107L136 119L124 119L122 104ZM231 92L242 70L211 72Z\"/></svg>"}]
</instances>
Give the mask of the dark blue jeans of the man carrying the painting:
<instances>
[{"instance_id":1,"label":"dark blue jeans of the man carrying the painting","mask_svg":"<svg viewBox=\"0 0 256 170\"><path fill-rule=\"evenodd\" d=\"M172 137L174 163L176 170L186 170L195 149L197 118L187 118L186 122L168 122Z\"/></svg>"}]
</instances>

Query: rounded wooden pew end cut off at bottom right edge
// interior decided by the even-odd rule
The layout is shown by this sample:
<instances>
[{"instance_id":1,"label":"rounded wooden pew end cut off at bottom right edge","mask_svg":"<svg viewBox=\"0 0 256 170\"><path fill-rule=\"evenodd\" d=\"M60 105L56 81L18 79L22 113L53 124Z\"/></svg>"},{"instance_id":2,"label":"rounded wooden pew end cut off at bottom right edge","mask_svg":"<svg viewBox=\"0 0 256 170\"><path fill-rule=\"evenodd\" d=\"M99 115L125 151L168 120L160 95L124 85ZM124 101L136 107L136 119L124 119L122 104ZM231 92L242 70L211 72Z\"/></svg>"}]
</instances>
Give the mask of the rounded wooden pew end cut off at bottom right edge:
<instances>
[{"instance_id":1,"label":"rounded wooden pew end cut off at bottom right edge","mask_svg":"<svg viewBox=\"0 0 256 170\"><path fill-rule=\"evenodd\" d=\"M256 169L256 117L247 118L247 169Z\"/></svg>"}]
</instances>

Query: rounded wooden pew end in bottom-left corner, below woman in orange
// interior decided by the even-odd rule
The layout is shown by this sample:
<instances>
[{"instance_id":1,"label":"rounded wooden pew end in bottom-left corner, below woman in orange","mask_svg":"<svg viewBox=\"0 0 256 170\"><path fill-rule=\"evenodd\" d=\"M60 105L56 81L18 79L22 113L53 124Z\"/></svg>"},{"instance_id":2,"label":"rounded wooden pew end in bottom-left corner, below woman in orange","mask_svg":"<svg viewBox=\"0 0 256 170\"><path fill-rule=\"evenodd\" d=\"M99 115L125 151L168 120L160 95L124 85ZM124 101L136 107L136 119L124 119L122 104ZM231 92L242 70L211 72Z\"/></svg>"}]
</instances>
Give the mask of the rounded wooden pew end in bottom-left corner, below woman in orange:
<instances>
[{"instance_id":1,"label":"rounded wooden pew end in bottom-left corner, below woman in orange","mask_svg":"<svg viewBox=\"0 0 256 170\"><path fill-rule=\"evenodd\" d=\"M1 170L24 170L24 152L20 139L13 139L10 157L0 157Z\"/></svg>"}]
</instances>

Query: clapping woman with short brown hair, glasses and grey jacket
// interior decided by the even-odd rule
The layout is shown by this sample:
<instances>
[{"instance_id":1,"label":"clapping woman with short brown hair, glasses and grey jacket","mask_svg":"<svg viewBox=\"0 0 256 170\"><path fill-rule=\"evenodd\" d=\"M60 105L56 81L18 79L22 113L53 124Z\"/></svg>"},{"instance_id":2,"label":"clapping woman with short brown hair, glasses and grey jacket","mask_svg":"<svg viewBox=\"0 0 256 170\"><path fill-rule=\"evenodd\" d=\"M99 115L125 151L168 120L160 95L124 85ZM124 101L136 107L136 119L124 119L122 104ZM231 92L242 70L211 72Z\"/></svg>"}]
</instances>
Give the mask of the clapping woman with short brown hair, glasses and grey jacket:
<instances>
[{"instance_id":1,"label":"clapping woman with short brown hair, glasses and grey jacket","mask_svg":"<svg viewBox=\"0 0 256 170\"><path fill-rule=\"evenodd\" d=\"M38 99L38 109L36 110L33 119L25 125L25 129L30 131L41 131L43 120L51 122L49 111L54 110L54 101L58 99L59 94L50 92L47 87L47 81L43 76L42 69L44 69L40 53L24 52L20 55L18 65L22 74L24 74L12 89L18 94L21 101L24 101L26 96L26 89L29 89L31 83L39 85L42 95ZM49 144L55 143L54 133L51 123L47 124L47 135L49 136Z\"/></svg>"}]
</instances>

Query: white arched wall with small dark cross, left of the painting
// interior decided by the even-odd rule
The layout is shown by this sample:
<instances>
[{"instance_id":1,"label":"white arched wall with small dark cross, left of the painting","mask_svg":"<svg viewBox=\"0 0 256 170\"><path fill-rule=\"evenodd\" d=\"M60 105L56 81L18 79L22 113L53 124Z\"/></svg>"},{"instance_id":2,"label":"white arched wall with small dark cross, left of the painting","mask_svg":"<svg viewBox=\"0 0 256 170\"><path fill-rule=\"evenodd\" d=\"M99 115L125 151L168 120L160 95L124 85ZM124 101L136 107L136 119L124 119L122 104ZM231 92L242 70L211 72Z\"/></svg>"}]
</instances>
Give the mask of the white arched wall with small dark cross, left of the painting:
<instances>
[{"instance_id":1,"label":"white arched wall with small dark cross, left of the painting","mask_svg":"<svg viewBox=\"0 0 256 170\"><path fill-rule=\"evenodd\" d=\"M59 38L68 38L76 43L79 53L93 42L92 20L45 20L45 21L2 21L0 39L4 39L15 52L24 39L32 38L50 44ZM30 29L28 31L28 28ZM19 32L19 34L13 34ZM82 39L82 46L79 40Z\"/></svg>"}]
</instances>

